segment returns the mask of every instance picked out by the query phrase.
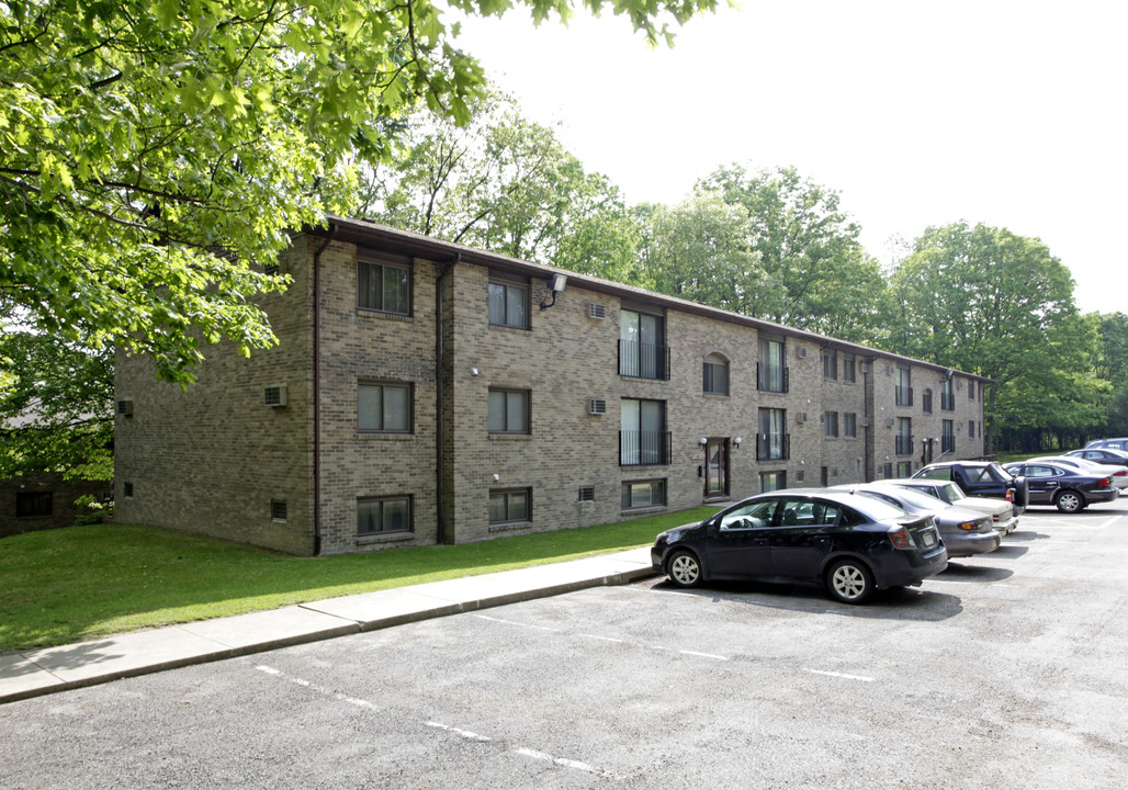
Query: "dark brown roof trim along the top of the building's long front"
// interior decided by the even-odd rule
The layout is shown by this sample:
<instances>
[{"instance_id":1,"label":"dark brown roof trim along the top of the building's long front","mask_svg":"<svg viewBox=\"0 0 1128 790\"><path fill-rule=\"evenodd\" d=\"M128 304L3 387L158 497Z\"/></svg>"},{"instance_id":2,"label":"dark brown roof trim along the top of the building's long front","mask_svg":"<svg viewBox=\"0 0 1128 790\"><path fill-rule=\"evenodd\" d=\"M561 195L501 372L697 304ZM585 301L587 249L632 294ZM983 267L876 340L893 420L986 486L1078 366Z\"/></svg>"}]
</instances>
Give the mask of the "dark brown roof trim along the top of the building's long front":
<instances>
[{"instance_id":1,"label":"dark brown roof trim along the top of the building's long front","mask_svg":"<svg viewBox=\"0 0 1128 790\"><path fill-rule=\"evenodd\" d=\"M476 247L468 247L462 244L455 244L452 242L443 242L431 236L424 236L423 234L412 232L409 230L397 230L390 228L386 225L378 225L376 222L370 222L367 220L358 219L346 219L344 217L327 216L327 222L332 222L336 231L336 240L349 242L351 244L356 244L361 246L373 246L377 245L384 249L388 249L400 255L411 255L413 257L423 257L433 260L440 263L453 261L459 257L465 263L473 263L479 266L487 266L488 269L509 272L511 274L519 274L521 276L529 278L540 278L547 280L553 274L566 274L569 278L569 284L575 284L584 288L589 291L594 291L596 293L605 293L607 296L614 296L619 299L625 299L634 304L649 304L653 305L655 308L677 310L679 313L687 313L689 315L703 316L706 318L712 318L714 321L723 321L729 324L739 324L741 326L750 326L757 332L765 332L770 335L793 337L802 340L809 343L814 343L822 349L835 349L836 351L846 351L849 353L855 353L865 357L867 360L873 361L878 358L889 359L889 360L904 360L911 363L915 367L929 368L938 372L946 372L950 368L943 365L936 365L935 362L926 362L922 359L913 359L911 357L902 357L900 354L895 354L891 351L882 351L880 349L873 349L867 345L860 345L857 343L851 343L845 340L839 340L837 337L829 337L827 335L821 335L816 332L809 332L807 330L796 330L791 326L785 326L783 324L776 324L770 321L764 321L763 318L752 318L750 316L740 315L739 313L730 313L728 310L722 310L717 307L710 307L708 305L700 305L695 301L688 301L686 299L679 299L677 297L666 296L664 293L655 293L653 291L647 291L642 288L634 288L633 286L626 286L622 282L614 282L611 280L602 280L590 274L580 274L578 272L572 272L566 269L558 269L554 266L545 266L539 263L532 263L530 261L522 261L520 258L508 257L505 255L497 255L495 253L486 252L485 249L477 249ZM328 230L326 228L314 228L307 227L303 229L314 236L325 236ZM977 374L969 374L964 370L957 370L961 376L967 378L976 379L978 381L994 383L986 376L979 376Z\"/></svg>"}]
</instances>

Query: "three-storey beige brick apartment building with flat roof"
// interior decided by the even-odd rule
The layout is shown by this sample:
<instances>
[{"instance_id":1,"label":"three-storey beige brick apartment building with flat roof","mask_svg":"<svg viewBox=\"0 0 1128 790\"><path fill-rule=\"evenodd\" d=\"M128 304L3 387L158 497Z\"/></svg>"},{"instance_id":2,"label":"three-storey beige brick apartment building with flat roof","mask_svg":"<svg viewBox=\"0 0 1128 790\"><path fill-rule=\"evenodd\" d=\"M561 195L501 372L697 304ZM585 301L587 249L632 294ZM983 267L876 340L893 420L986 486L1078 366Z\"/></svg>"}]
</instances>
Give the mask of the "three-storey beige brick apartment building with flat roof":
<instances>
[{"instance_id":1,"label":"three-storey beige brick apartment building with flat roof","mask_svg":"<svg viewBox=\"0 0 1128 790\"><path fill-rule=\"evenodd\" d=\"M117 520L335 554L984 451L986 379L919 360L358 220L280 266L276 348L118 354Z\"/></svg>"}]
</instances>

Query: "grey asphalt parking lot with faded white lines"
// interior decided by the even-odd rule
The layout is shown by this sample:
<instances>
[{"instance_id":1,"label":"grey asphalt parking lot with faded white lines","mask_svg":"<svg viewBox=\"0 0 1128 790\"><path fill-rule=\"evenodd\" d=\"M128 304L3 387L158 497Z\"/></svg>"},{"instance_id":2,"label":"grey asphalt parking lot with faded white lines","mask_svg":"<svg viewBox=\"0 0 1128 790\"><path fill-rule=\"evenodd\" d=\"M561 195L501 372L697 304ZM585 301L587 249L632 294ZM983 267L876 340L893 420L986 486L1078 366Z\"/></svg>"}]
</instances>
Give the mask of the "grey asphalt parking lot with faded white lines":
<instances>
[{"instance_id":1,"label":"grey asphalt parking lot with faded white lines","mask_svg":"<svg viewBox=\"0 0 1128 790\"><path fill-rule=\"evenodd\" d=\"M5 705L3 788L1123 788L1128 502L867 606L661 579Z\"/></svg>"}]
</instances>

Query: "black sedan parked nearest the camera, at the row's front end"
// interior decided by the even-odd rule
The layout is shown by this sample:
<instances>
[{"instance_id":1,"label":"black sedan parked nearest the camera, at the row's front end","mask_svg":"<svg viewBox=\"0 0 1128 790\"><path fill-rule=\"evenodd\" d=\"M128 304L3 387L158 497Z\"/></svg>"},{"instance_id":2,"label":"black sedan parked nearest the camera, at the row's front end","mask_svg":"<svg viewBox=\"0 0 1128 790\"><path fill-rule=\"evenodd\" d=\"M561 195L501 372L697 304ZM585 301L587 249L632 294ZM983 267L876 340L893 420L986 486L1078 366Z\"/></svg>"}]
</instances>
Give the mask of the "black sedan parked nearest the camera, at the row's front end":
<instances>
[{"instance_id":1,"label":"black sedan parked nearest the camera, at the row's front end","mask_svg":"<svg viewBox=\"0 0 1128 790\"><path fill-rule=\"evenodd\" d=\"M875 589L919 585L948 565L932 516L827 489L751 497L662 533L650 558L678 587L710 579L799 581L823 585L846 604L861 604Z\"/></svg>"}]
</instances>

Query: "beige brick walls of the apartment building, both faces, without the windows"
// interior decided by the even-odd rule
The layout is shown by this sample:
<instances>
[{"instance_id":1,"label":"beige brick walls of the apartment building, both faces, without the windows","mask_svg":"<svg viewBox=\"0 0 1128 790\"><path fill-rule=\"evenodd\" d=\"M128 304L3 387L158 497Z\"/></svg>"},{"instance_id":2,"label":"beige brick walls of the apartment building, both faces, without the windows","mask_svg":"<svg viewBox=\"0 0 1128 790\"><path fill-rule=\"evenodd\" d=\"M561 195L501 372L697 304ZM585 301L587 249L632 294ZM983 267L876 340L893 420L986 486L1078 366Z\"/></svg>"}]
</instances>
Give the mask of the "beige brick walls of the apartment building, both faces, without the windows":
<instances>
[{"instance_id":1,"label":"beige brick walls of the apartment building, both faces, without the windows","mask_svg":"<svg viewBox=\"0 0 1128 790\"><path fill-rule=\"evenodd\" d=\"M350 237L355 238L355 237ZM300 238L287 254L296 283L264 305L282 343L246 360L221 345L209 350L199 383L187 393L158 384L143 359L118 357L116 397L132 400L132 418L117 423L117 497L123 521L203 532L298 554L315 551L315 353L312 278L320 238ZM372 251L379 252L379 251ZM440 251L441 252L441 251ZM756 493L765 472L785 472L787 484L819 485L880 476L893 453L897 415L914 421L919 438L940 436L951 416L957 455L979 455L981 439L968 438L968 421L981 436L982 397L969 401L957 389L955 411L941 414L941 371L915 366L913 406L893 404L895 378L885 374L896 358L856 353L856 377L823 377L821 352L828 340L783 327L764 327L786 343L787 393L757 388L759 328L720 321L655 295L627 293L609 283L585 286L571 278L554 306L541 310L547 272L497 261L508 278L523 271L529 288L529 328L491 326L491 270L453 256L414 257L409 317L356 307L358 247L334 240L320 254L320 551L344 553L438 542L466 543L523 532L606 524L653 510L624 511L624 482L662 480L675 510L706 501L702 437L732 440L729 499ZM601 305L605 317L590 316ZM670 349L669 380L624 377L618 340L624 308L662 315ZM441 313L441 315L440 315ZM441 330L439 328L441 326ZM444 349L439 370L438 346ZM832 345L832 344L831 344ZM805 350L801 356L800 350ZM729 363L729 394L703 393L702 365L716 354ZM361 381L408 384L413 393L408 433L365 433L358 427ZM284 383L289 405L262 405L262 389ZM922 409L925 386L934 389L933 414ZM530 432L492 436L491 388L529 393ZM607 412L588 413L589 398ZM620 466L620 403L662 401L670 432L669 464ZM758 462L759 410L786 410L790 458ZM821 420L838 414L838 437L827 437ZM799 415L807 415L800 421ZM846 413L857 414L857 437L845 436ZM869 415L870 424L865 424ZM440 441L441 439L441 441ZM938 444L937 444L938 445ZM936 454L940 448L937 446ZM860 460L861 458L861 460ZM887 460L888 458L888 460ZM905 458L909 459L909 458ZM802 475L802 482L800 482ZM132 497L124 497L124 483ZM591 486L593 501L579 501ZM491 525L492 490L531 491L531 518ZM441 491L441 495L440 495ZM409 497L412 532L359 537L356 502L369 497ZM270 518L271 500L288 504L285 523ZM713 498L716 501L723 498ZM442 501L442 514L439 511ZM442 518L440 518L440 515Z\"/></svg>"}]
</instances>

